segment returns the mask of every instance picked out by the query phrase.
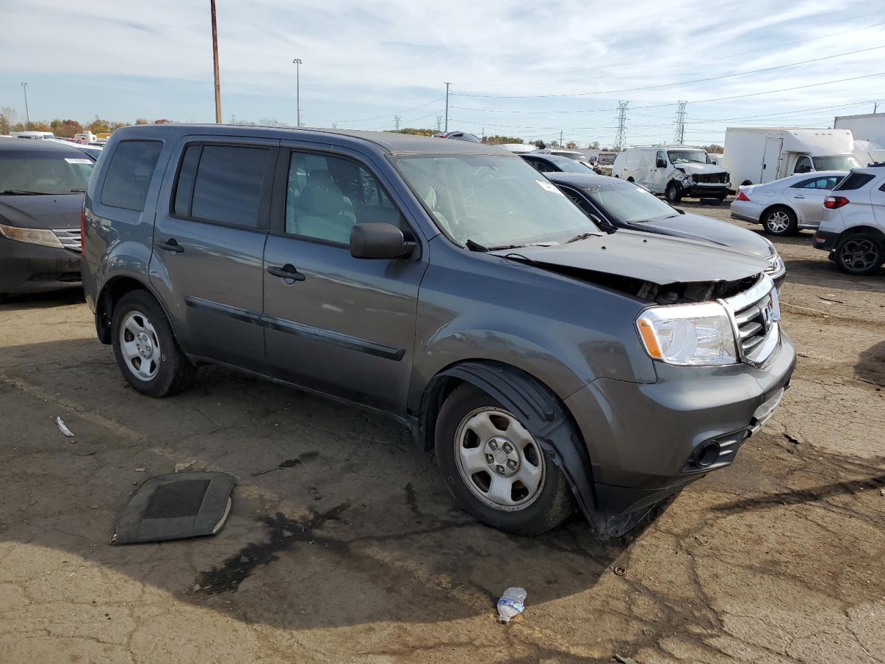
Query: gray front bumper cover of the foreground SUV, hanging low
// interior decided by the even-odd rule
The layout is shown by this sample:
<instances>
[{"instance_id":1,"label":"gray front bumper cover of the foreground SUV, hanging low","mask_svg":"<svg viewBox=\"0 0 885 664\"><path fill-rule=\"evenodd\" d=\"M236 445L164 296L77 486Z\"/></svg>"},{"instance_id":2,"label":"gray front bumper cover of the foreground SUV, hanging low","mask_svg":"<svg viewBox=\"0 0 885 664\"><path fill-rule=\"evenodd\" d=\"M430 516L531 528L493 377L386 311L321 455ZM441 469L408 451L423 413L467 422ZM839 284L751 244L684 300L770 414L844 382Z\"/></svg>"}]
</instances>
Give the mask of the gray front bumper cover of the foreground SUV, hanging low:
<instances>
[{"instance_id":1,"label":"gray front bumper cover of the foreground SUV, hanging low","mask_svg":"<svg viewBox=\"0 0 885 664\"><path fill-rule=\"evenodd\" d=\"M765 367L671 367L658 382L599 378L566 400L592 459L596 528L616 537L651 506L735 459L772 416L796 367L781 345Z\"/></svg>"}]
</instances>

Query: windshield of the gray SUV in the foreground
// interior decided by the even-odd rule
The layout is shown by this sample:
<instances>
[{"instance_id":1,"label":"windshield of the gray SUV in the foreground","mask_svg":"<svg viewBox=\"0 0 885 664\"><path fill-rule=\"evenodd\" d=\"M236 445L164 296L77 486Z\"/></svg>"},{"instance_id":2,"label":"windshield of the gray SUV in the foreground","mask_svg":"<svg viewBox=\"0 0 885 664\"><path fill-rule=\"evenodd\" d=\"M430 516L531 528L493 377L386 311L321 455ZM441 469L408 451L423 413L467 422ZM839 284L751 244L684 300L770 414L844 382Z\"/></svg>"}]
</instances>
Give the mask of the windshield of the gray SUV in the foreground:
<instances>
[{"instance_id":1,"label":"windshield of the gray SUV in the foreground","mask_svg":"<svg viewBox=\"0 0 885 664\"><path fill-rule=\"evenodd\" d=\"M399 157L396 168L436 225L461 244L472 240L496 248L562 243L599 232L556 185L519 157Z\"/></svg>"}]
</instances>

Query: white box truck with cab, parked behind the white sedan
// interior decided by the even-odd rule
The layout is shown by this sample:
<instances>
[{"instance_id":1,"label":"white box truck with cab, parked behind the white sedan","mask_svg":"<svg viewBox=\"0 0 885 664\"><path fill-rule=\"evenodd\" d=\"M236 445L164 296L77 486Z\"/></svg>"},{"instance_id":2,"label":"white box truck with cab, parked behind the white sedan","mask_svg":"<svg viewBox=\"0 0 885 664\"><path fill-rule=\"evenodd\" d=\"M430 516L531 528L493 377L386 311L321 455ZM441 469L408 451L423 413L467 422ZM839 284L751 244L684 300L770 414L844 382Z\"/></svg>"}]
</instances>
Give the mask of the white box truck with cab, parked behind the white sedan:
<instances>
[{"instance_id":1,"label":"white box truck with cab, parked behind the white sedan","mask_svg":"<svg viewBox=\"0 0 885 664\"><path fill-rule=\"evenodd\" d=\"M860 166L849 129L727 127L724 166L735 189L814 171Z\"/></svg>"}]
</instances>

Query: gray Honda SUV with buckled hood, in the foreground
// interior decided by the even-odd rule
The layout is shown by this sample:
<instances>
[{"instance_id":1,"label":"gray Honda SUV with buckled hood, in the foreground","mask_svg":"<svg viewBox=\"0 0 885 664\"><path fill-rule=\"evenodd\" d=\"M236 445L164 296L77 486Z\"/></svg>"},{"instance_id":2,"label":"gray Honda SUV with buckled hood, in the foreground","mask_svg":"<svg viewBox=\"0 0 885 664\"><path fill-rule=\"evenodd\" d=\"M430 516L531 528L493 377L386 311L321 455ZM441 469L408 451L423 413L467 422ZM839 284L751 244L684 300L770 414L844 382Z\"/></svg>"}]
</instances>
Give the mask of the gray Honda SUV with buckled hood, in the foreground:
<instances>
[{"instance_id":1,"label":"gray Honda SUV with buckled hood, in the foreground","mask_svg":"<svg viewBox=\"0 0 885 664\"><path fill-rule=\"evenodd\" d=\"M574 505L627 531L729 465L795 366L765 261L608 235L480 143L126 127L84 216L98 338L136 390L211 362L388 413L512 533Z\"/></svg>"}]
</instances>

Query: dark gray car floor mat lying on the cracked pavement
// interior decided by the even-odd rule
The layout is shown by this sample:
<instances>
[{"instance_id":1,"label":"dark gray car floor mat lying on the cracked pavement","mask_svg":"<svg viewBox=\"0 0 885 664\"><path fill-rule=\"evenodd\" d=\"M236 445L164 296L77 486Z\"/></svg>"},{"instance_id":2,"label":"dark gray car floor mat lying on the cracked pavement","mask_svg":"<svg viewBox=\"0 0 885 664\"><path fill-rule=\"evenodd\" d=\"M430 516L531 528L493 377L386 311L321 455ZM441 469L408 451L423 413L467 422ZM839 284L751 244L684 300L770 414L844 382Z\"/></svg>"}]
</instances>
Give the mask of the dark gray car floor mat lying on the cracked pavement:
<instances>
[{"instance_id":1,"label":"dark gray car floor mat lying on the cracked pavement","mask_svg":"<svg viewBox=\"0 0 885 664\"><path fill-rule=\"evenodd\" d=\"M215 535L231 508L235 479L189 471L149 477L120 513L111 544L164 542Z\"/></svg>"}]
</instances>

